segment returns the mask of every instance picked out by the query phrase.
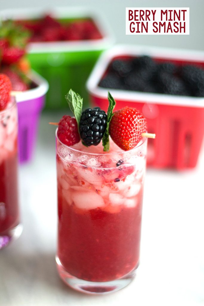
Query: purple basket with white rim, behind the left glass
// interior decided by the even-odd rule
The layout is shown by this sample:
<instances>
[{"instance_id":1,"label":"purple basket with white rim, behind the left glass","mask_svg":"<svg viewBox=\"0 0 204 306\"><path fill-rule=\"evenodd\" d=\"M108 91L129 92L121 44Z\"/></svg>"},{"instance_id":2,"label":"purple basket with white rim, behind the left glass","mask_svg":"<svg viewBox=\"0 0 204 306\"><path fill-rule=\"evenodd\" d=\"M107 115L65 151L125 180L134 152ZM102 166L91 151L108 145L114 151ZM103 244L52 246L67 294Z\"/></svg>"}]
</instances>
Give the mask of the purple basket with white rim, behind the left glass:
<instances>
[{"instance_id":1,"label":"purple basket with white rim, behind the left glass","mask_svg":"<svg viewBox=\"0 0 204 306\"><path fill-rule=\"evenodd\" d=\"M18 144L20 162L32 159L41 111L48 91L48 82L32 71L28 77L37 86L16 95L18 106Z\"/></svg>"}]
</instances>

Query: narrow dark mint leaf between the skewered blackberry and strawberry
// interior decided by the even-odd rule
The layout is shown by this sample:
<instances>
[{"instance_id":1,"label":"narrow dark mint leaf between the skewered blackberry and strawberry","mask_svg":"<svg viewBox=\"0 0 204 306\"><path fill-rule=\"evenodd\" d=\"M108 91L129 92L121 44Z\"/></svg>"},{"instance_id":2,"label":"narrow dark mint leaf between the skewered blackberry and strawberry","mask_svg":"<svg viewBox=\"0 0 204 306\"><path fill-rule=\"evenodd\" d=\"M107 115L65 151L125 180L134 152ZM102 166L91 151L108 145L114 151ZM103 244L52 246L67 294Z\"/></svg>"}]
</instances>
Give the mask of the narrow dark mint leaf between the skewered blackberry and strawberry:
<instances>
[{"instance_id":1,"label":"narrow dark mint leaf between the skewered blackberry and strawberry","mask_svg":"<svg viewBox=\"0 0 204 306\"><path fill-rule=\"evenodd\" d=\"M106 125L106 130L102 138L102 144L103 144L103 151L107 152L109 151L110 148L110 143L109 143L109 124L111 121L111 118L113 117L113 109L116 105L115 100L113 99L112 95L108 91L108 111L107 111L107 125Z\"/></svg>"}]
</instances>

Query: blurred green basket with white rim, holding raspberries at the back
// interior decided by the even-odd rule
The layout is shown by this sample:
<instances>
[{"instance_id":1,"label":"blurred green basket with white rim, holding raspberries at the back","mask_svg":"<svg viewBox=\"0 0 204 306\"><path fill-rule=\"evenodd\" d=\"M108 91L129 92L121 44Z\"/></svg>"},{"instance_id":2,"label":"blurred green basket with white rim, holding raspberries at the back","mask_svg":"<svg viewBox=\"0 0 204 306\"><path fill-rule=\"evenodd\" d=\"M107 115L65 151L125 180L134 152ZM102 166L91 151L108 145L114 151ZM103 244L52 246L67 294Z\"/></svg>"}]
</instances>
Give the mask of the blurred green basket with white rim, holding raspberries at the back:
<instances>
[{"instance_id":1,"label":"blurred green basket with white rim, holding raspberries at the back","mask_svg":"<svg viewBox=\"0 0 204 306\"><path fill-rule=\"evenodd\" d=\"M113 35L101 16L85 8L53 9L8 9L0 12L3 19L38 20L50 14L58 21L69 22L91 19L102 34L101 39L32 42L28 45L28 59L32 69L49 83L46 95L46 109L57 110L66 107L65 94L72 88L84 98L88 106L86 80L103 50L113 44Z\"/></svg>"}]
</instances>

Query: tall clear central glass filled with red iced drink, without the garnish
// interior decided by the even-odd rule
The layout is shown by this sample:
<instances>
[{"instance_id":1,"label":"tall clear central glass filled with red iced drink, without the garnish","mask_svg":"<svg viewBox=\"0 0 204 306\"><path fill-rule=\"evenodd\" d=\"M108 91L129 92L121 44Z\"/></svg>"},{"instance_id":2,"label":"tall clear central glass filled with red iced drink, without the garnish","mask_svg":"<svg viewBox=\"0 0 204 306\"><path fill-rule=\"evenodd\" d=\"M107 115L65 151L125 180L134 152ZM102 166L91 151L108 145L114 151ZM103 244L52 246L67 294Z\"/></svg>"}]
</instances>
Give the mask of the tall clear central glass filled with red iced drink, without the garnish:
<instances>
[{"instance_id":1,"label":"tall clear central glass filled with red iced drink, without the garnish","mask_svg":"<svg viewBox=\"0 0 204 306\"><path fill-rule=\"evenodd\" d=\"M146 167L147 139L130 151L112 141L68 147L57 138L60 277L74 289L117 291L135 277Z\"/></svg>"}]
</instances>

